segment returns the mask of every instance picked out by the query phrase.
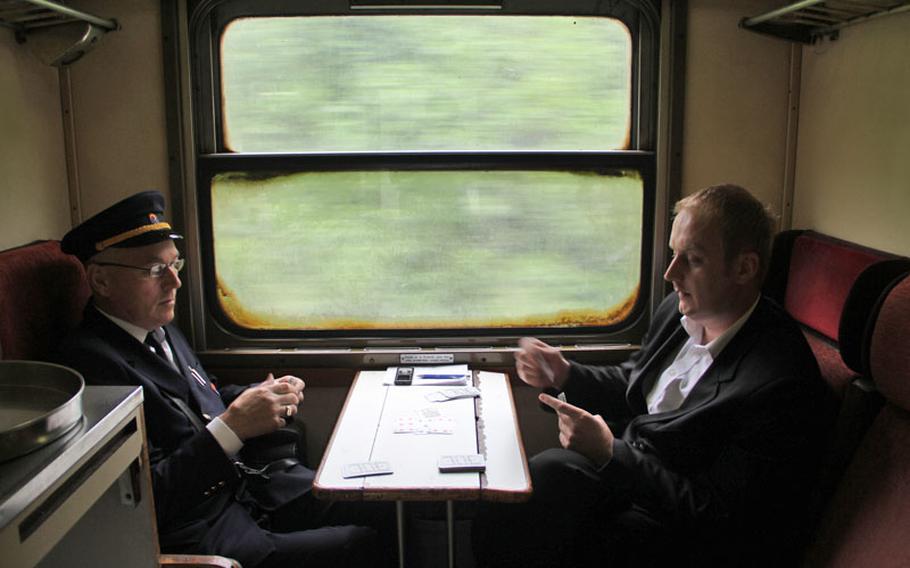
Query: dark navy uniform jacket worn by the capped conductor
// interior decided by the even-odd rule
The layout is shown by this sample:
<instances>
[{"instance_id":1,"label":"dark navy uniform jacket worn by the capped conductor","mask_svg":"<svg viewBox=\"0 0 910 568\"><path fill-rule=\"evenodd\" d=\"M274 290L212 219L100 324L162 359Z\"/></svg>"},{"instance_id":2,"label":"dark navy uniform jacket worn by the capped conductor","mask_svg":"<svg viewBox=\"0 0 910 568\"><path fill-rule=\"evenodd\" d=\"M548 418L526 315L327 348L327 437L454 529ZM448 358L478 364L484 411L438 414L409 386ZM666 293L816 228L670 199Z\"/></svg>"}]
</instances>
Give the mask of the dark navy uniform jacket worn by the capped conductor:
<instances>
[{"instance_id":1,"label":"dark navy uniform jacket worn by the capped conductor","mask_svg":"<svg viewBox=\"0 0 910 568\"><path fill-rule=\"evenodd\" d=\"M143 388L162 550L221 554L254 565L273 545L248 504L266 509L286 504L310 491L313 472L296 465L271 473L268 483L257 484L251 494L215 438L194 425L174 402L183 401L208 422L242 389L226 387L220 392L180 331L174 326L165 330L179 372L89 303L82 324L64 341L59 359L82 373L90 385Z\"/></svg>"}]
</instances>

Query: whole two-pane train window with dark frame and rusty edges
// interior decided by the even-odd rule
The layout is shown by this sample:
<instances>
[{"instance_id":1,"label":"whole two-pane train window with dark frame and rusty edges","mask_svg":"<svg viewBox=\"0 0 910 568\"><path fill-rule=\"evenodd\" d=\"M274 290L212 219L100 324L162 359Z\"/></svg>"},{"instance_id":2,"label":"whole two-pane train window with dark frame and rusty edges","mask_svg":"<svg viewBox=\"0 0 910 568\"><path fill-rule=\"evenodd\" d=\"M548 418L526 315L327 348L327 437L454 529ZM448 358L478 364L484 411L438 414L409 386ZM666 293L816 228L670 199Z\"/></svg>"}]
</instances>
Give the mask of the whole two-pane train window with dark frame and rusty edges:
<instances>
[{"instance_id":1,"label":"whole two-pane train window with dark frame and rusty edges","mask_svg":"<svg viewBox=\"0 0 910 568\"><path fill-rule=\"evenodd\" d=\"M650 270L644 18L600 2L257 4L191 20L207 109L197 214L219 328L369 344L628 325Z\"/></svg>"}]
</instances>

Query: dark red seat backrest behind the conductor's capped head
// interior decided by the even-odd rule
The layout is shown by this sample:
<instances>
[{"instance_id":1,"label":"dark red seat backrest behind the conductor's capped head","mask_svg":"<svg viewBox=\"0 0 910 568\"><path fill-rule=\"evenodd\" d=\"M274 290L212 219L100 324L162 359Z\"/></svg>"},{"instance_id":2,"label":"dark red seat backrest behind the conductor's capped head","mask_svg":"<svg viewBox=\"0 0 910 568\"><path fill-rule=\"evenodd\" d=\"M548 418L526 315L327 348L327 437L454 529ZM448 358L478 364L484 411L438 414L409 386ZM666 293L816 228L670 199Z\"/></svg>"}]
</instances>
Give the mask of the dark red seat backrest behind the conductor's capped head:
<instances>
[{"instance_id":1,"label":"dark red seat backrest behind the conductor's capped head","mask_svg":"<svg viewBox=\"0 0 910 568\"><path fill-rule=\"evenodd\" d=\"M47 360L89 294L82 264L59 241L0 252L0 358Z\"/></svg>"}]
</instances>

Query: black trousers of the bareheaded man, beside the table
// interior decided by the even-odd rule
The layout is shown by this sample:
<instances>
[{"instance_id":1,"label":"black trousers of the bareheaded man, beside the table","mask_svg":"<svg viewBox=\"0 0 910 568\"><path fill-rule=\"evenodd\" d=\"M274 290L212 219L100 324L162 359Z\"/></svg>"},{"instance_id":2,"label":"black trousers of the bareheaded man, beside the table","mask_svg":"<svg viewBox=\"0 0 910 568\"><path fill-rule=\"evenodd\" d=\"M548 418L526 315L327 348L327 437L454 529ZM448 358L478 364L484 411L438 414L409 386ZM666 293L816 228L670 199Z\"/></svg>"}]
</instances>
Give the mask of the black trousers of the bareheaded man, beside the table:
<instances>
[{"instance_id":1,"label":"black trousers of the bareheaded man, beside the table","mask_svg":"<svg viewBox=\"0 0 910 568\"><path fill-rule=\"evenodd\" d=\"M664 527L581 454L551 449L529 461L527 503L484 503L474 520L478 566L656 566Z\"/></svg>"}]
</instances>

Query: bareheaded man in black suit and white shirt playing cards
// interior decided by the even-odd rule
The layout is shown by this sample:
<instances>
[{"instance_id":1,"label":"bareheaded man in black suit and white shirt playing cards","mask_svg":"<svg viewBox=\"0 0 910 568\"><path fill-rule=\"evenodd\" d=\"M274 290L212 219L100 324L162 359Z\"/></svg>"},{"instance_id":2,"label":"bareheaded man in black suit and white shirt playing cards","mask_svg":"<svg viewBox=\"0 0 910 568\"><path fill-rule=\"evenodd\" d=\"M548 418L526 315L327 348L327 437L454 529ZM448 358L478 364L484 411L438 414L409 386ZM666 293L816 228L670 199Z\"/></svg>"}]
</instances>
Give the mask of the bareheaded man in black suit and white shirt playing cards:
<instances>
[{"instance_id":1,"label":"bareheaded man in black suit and white shirt playing cards","mask_svg":"<svg viewBox=\"0 0 910 568\"><path fill-rule=\"evenodd\" d=\"M562 448L531 460L529 505L479 515L483 563L794 560L831 396L796 324L761 295L773 220L732 185L675 213L674 291L627 362L584 366L520 342L518 376L545 389Z\"/></svg>"}]
</instances>

